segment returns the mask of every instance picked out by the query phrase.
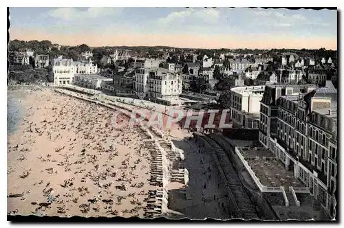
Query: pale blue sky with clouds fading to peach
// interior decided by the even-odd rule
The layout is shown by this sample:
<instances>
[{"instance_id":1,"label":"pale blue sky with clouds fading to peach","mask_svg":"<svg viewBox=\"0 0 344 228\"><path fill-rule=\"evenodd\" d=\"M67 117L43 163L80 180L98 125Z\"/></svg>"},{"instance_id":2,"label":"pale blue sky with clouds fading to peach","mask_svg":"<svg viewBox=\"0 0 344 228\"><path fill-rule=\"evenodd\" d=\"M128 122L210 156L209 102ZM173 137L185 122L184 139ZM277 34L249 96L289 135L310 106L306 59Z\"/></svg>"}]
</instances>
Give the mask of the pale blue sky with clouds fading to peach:
<instances>
[{"instance_id":1,"label":"pale blue sky with clouds fading to peach","mask_svg":"<svg viewBox=\"0 0 344 228\"><path fill-rule=\"evenodd\" d=\"M337 49L336 10L10 8L10 40L60 45Z\"/></svg>"}]
</instances>

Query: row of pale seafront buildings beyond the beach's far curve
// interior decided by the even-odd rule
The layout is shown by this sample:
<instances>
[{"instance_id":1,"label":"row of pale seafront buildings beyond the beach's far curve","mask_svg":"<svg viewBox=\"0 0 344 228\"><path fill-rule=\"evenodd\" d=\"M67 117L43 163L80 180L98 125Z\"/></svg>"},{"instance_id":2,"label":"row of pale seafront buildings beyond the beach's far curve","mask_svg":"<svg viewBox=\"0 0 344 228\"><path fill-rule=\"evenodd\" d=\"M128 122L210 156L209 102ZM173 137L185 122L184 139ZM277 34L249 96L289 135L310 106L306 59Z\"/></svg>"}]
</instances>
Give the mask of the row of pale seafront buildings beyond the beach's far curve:
<instances>
[{"instance_id":1,"label":"row of pale seafront buildings beyond the beach's far curve","mask_svg":"<svg viewBox=\"0 0 344 228\"><path fill-rule=\"evenodd\" d=\"M146 58L133 63L133 71L127 76L106 78L98 74L98 67L91 58L87 62L56 58L53 62L54 84L77 84L91 89L105 89L116 95L137 95L141 99L153 98L170 103L182 94L182 76L172 65L159 67L161 61Z\"/></svg>"}]
</instances>

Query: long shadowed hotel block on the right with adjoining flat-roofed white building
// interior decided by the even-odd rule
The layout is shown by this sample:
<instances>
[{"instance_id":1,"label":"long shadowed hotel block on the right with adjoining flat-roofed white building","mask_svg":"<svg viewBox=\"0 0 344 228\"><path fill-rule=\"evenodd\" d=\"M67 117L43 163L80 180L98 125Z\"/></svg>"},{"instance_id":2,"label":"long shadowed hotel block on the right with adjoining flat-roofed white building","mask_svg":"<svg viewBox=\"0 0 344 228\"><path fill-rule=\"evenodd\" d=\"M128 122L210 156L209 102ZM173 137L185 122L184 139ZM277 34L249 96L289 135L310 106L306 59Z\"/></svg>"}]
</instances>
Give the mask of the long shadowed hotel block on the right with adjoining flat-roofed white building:
<instances>
[{"instance_id":1,"label":"long shadowed hotel block on the right with adjoining flat-roofed white building","mask_svg":"<svg viewBox=\"0 0 344 228\"><path fill-rule=\"evenodd\" d=\"M335 216L338 120L331 81L325 87L280 82L235 87L230 114L237 126L259 129L259 142Z\"/></svg>"}]
</instances>

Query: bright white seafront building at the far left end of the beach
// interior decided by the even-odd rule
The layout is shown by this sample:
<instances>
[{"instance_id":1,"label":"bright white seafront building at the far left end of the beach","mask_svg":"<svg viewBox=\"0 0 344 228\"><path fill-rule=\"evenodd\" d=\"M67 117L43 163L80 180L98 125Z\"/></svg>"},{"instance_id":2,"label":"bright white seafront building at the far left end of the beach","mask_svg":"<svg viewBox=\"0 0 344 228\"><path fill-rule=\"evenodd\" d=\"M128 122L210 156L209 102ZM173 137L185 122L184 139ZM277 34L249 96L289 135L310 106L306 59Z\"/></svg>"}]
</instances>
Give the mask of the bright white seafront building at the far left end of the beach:
<instances>
[{"instance_id":1,"label":"bright white seafront building at the far left end of the beach","mask_svg":"<svg viewBox=\"0 0 344 228\"><path fill-rule=\"evenodd\" d=\"M54 72L54 84L73 84L76 74L97 73L97 65L93 65L89 58L88 62L74 62L73 59L55 58L52 70Z\"/></svg>"}]
</instances>

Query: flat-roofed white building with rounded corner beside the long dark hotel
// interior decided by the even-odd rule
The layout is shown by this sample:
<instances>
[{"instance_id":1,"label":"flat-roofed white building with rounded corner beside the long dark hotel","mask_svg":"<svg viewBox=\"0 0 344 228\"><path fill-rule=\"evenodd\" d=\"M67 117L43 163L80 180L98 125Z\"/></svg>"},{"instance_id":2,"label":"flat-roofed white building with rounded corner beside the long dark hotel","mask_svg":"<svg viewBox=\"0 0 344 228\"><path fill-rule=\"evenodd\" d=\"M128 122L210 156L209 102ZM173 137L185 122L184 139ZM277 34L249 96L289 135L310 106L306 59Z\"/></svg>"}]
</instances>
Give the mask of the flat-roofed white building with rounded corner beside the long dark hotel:
<instances>
[{"instance_id":1,"label":"flat-roofed white building with rounded corner beside the long dark hotel","mask_svg":"<svg viewBox=\"0 0 344 228\"><path fill-rule=\"evenodd\" d=\"M230 117L235 124L249 129L259 128L260 101L264 86L230 89Z\"/></svg>"}]
</instances>

